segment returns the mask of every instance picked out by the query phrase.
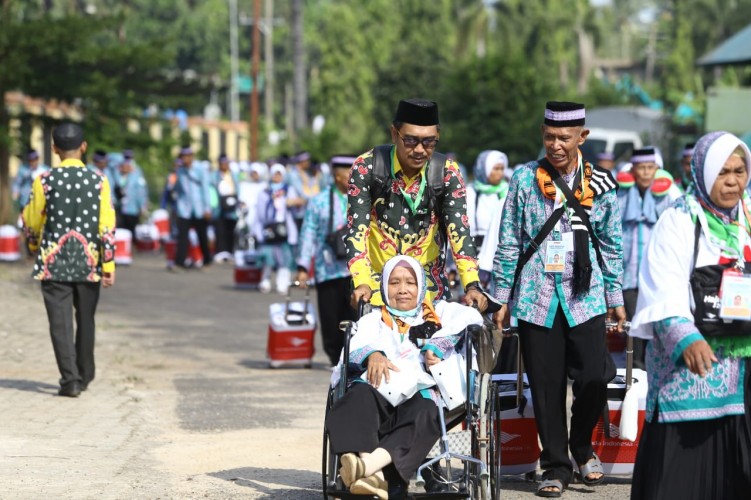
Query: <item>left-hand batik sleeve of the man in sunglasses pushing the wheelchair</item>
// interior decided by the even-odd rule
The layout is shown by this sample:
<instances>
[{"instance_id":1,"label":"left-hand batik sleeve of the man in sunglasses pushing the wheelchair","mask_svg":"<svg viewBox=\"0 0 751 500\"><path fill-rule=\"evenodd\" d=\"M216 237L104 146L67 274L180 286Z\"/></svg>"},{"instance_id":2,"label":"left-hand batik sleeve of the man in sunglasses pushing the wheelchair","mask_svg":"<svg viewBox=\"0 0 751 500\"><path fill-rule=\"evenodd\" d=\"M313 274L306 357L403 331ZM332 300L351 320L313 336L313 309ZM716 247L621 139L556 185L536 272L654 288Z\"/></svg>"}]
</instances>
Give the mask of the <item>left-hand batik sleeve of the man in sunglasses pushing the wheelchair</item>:
<instances>
[{"instance_id":1,"label":"left-hand batik sleeve of the man in sunglasses pushing the wheelchair","mask_svg":"<svg viewBox=\"0 0 751 500\"><path fill-rule=\"evenodd\" d=\"M373 152L359 156L352 165L347 204L347 258L352 281L357 288L370 284L372 264L368 255L370 234L371 193L373 178Z\"/></svg>"}]
</instances>

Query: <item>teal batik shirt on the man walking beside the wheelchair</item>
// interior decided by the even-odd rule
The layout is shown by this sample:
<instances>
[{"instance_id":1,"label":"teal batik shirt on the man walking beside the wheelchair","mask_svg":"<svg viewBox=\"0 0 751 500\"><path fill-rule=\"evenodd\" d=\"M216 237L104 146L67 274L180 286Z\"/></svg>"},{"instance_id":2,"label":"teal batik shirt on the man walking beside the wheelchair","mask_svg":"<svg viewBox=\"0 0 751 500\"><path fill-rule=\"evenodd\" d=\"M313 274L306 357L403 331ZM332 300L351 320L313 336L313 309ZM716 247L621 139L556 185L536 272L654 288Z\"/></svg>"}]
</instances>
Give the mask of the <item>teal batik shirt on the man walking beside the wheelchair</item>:
<instances>
[{"instance_id":1,"label":"teal batik shirt on the man walking beside the wheelchair","mask_svg":"<svg viewBox=\"0 0 751 500\"><path fill-rule=\"evenodd\" d=\"M538 186L538 167L539 162L533 161L516 170L503 208L499 245L493 259L493 279L497 283L495 298L504 304L509 302L518 259L540 232L555 206L555 201L545 197ZM563 178L570 183L573 175L578 175L578 171ZM596 168L592 182L597 175L604 174ZM547 236L519 276L511 301L511 314L517 319L550 328L560 307L569 326L576 326L604 314L608 307L623 305L623 239L618 197L612 188L599 194L598 189L594 191L589 218L600 242L604 266L601 268L598 264L590 238L592 278L589 291L579 296L573 294L572 251L566 252L563 273L546 273L544 270L547 242L561 240L563 234L571 231L568 217L564 215L560 231L554 230Z\"/></svg>"}]
</instances>

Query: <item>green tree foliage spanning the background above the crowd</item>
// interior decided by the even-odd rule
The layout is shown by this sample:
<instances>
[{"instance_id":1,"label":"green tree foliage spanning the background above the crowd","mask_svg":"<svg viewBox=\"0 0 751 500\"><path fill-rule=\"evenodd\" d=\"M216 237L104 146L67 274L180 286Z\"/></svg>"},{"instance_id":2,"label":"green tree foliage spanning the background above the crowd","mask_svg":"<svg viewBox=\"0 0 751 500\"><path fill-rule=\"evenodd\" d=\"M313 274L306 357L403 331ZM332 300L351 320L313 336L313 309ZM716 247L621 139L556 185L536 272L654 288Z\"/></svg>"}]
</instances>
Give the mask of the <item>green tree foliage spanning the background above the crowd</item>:
<instances>
[{"instance_id":1,"label":"green tree foliage spanning the background above the crowd","mask_svg":"<svg viewBox=\"0 0 751 500\"><path fill-rule=\"evenodd\" d=\"M0 5L0 92L77 103L98 145L135 145L155 164L164 163L168 145L124 133L126 117L153 105L191 114L212 100L224 105L230 79L227 0ZM284 129L293 114L291 2L273 5L273 35L264 37L273 46L269 88L275 98L264 131ZM239 27L239 68L248 74L252 2L238 0L238 6L245 21ZM700 107L714 75L695 67L694 59L751 22L751 0L611 0L597 7L589 0L305 0L304 21L306 114L324 116L326 125L319 134L302 131L297 142L261 141L264 156L301 147L319 160L361 152L388 140L400 98L422 96L440 103L441 148L471 163L478 151L497 147L517 162L537 153L546 100L594 106L633 99L613 85L623 69L594 77L598 61L630 61L633 74L627 76L668 110L689 95ZM651 74L654 84L642 81ZM722 81L749 78L748 69L730 69ZM247 98L241 111L247 116ZM2 185L9 146L20 149L7 142L6 130L3 110Z\"/></svg>"}]
</instances>

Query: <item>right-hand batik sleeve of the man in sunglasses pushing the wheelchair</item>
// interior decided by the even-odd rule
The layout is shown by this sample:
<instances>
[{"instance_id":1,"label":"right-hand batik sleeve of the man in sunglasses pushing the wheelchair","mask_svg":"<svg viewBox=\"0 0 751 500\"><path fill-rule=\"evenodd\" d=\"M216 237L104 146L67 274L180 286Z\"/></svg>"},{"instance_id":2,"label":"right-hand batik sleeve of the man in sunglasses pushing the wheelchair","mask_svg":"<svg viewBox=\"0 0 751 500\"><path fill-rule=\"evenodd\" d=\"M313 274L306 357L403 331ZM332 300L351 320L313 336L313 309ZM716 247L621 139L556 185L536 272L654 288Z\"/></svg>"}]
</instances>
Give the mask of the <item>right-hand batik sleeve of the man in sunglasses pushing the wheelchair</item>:
<instances>
[{"instance_id":1,"label":"right-hand batik sleeve of the man in sunglasses pushing the wheelchair","mask_svg":"<svg viewBox=\"0 0 751 500\"><path fill-rule=\"evenodd\" d=\"M475 281L480 281L477 268L477 250L469 232L467 189L459 173L459 166L454 160L446 162L444 172L443 219L456 269L462 284L467 286Z\"/></svg>"}]
</instances>

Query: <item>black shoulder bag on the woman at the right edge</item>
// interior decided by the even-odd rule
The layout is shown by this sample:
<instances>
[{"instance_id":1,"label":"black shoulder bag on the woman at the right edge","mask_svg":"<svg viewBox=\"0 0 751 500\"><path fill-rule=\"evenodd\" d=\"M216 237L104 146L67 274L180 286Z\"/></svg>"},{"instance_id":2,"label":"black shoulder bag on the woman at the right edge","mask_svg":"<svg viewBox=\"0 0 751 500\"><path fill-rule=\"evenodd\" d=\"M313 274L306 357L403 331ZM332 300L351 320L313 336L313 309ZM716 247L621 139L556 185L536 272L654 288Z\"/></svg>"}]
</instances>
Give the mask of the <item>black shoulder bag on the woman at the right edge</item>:
<instances>
[{"instance_id":1,"label":"black shoulder bag on the woman at the right edge","mask_svg":"<svg viewBox=\"0 0 751 500\"><path fill-rule=\"evenodd\" d=\"M714 264L696 267L699 255L701 224L696 220L694 230L694 262L689 283L694 296L694 324L705 337L733 337L751 335L751 321L725 320L720 317L720 287L722 273L734 264ZM749 272L746 263L746 272Z\"/></svg>"}]
</instances>

